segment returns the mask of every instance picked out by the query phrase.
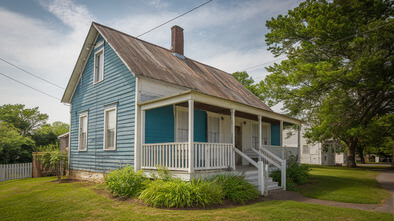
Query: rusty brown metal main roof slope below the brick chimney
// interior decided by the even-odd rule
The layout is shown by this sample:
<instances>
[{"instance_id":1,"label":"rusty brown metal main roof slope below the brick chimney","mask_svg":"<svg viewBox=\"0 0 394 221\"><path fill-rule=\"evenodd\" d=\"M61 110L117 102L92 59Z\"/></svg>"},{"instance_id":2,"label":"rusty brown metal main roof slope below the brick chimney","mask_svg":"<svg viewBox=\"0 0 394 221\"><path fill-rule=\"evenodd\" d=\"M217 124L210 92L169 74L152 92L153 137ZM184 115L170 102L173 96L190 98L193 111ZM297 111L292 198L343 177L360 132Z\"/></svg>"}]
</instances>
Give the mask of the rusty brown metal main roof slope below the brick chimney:
<instances>
[{"instance_id":1,"label":"rusty brown metal main roof slope below the brick chimney","mask_svg":"<svg viewBox=\"0 0 394 221\"><path fill-rule=\"evenodd\" d=\"M93 23L93 26L137 77L164 81L272 111L229 73L187 57L179 58L168 49L104 25Z\"/></svg>"}]
</instances>

